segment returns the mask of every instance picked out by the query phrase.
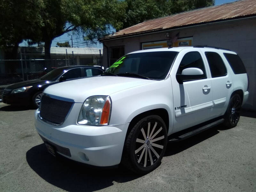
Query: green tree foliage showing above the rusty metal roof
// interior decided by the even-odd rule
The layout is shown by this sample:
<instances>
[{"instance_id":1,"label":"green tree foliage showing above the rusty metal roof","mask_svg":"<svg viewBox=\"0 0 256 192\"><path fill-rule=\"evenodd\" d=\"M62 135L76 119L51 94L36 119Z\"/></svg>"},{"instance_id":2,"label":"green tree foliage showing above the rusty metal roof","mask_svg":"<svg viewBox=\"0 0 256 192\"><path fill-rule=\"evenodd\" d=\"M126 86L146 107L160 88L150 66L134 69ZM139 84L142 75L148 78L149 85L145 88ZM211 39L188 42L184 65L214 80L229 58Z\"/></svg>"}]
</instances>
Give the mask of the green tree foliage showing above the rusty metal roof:
<instances>
[{"instance_id":1,"label":"green tree foliage showing above the rusty metal roof","mask_svg":"<svg viewBox=\"0 0 256 192\"><path fill-rule=\"evenodd\" d=\"M145 20L211 6L214 0L124 0L120 3L124 14L120 18L123 25L118 30Z\"/></svg>"}]
</instances>

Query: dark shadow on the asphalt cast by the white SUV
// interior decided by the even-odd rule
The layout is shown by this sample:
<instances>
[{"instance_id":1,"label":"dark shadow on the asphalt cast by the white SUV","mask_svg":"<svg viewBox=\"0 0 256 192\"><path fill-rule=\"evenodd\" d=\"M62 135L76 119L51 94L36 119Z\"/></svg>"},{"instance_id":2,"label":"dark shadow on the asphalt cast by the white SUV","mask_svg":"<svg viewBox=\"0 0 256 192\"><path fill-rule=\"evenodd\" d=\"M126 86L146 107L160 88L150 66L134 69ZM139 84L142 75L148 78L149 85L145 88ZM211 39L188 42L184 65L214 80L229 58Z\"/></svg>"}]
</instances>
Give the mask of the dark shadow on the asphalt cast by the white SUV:
<instances>
[{"instance_id":1,"label":"dark shadow on the asphalt cast by the white SUV","mask_svg":"<svg viewBox=\"0 0 256 192\"><path fill-rule=\"evenodd\" d=\"M190 139L170 143L164 156L171 156L190 148L216 134L216 127ZM35 146L26 154L29 166L44 180L67 191L96 191L118 183L128 182L141 175L129 172L123 167L102 169L86 166L66 158L56 159L46 151L44 144Z\"/></svg>"}]
</instances>

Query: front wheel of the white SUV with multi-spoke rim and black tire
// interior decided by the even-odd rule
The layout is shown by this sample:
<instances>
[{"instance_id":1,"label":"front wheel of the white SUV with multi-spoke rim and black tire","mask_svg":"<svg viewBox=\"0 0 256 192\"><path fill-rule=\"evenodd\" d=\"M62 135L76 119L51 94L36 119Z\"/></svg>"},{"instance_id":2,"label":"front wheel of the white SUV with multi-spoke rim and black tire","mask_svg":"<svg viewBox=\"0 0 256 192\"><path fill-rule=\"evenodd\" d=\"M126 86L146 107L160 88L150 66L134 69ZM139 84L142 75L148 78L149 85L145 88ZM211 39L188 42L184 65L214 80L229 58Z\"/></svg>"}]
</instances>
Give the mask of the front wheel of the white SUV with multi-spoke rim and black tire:
<instances>
[{"instance_id":1,"label":"front wheel of the white SUV with multi-spoke rim and black tire","mask_svg":"<svg viewBox=\"0 0 256 192\"><path fill-rule=\"evenodd\" d=\"M129 132L124 143L122 164L133 172L146 174L156 169L167 146L167 129L157 115L144 117Z\"/></svg>"}]
</instances>

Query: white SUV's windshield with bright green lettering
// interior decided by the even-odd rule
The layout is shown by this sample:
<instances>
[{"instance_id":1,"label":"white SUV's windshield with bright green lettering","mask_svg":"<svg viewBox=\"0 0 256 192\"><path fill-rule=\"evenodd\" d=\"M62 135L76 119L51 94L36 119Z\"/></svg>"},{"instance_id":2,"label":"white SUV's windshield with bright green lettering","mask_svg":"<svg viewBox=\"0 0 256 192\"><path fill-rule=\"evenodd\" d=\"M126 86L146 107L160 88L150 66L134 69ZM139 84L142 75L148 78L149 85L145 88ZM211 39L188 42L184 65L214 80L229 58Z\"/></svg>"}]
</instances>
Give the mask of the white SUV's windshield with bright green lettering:
<instances>
[{"instance_id":1,"label":"white SUV's windshield with bright green lettering","mask_svg":"<svg viewBox=\"0 0 256 192\"><path fill-rule=\"evenodd\" d=\"M178 52L141 52L125 55L111 65L106 73L117 76L164 79Z\"/></svg>"}]
</instances>

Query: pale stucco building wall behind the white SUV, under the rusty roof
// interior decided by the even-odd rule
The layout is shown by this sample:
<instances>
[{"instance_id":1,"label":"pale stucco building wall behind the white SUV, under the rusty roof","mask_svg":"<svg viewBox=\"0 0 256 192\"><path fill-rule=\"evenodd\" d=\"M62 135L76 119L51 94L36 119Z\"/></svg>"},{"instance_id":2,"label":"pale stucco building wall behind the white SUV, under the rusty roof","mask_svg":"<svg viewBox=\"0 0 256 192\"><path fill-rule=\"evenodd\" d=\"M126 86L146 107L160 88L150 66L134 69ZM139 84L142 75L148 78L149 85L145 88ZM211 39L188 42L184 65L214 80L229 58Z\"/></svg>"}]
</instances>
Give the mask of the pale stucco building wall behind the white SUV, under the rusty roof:
<instances>
[{"instance_id":1,"label":"pale stucco building wall behind the white SUV, under the rusty roof","mask_svg":"<svg viewBox=\"0 0 256 192\"><path fill-rule=\"evenodd\" d=\"M256 19L236 20L204 26L169 31L170 36L179 32L179 38L193 36L192 45L223 47L238 53L249 76L250 96L245 108L256 110ZM166 32L105 41L106 46L124 45L124 52L141 50L141 43L166 39ZM108 54L103 47L103 65L107 67Z\"/></svg>"}]
</instances>

